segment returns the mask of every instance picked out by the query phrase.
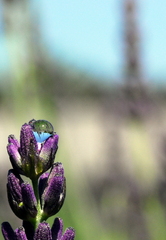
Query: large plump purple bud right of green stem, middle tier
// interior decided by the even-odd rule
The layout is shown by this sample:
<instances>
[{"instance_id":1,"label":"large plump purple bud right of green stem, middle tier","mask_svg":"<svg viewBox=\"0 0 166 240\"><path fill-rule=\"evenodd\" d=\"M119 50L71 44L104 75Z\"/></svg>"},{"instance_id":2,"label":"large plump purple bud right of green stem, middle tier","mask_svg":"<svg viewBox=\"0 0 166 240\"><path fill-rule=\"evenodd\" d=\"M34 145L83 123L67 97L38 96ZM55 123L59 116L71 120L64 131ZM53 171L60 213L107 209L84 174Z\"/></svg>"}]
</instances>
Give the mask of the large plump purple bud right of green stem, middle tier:
<instances>
[{"instance_id":1,"label":"large plump purple bud right of green stem, middle tier","mask_svg":"<svg viewBox=\"0 0 166 240\"><path fill-rule=\"evenodd\" d=\"M66 179L61 163L55 163L47 180L42 196L42 208L45 219L55 215L62 207L66 195Z\"/></svg>"}]
</instances>

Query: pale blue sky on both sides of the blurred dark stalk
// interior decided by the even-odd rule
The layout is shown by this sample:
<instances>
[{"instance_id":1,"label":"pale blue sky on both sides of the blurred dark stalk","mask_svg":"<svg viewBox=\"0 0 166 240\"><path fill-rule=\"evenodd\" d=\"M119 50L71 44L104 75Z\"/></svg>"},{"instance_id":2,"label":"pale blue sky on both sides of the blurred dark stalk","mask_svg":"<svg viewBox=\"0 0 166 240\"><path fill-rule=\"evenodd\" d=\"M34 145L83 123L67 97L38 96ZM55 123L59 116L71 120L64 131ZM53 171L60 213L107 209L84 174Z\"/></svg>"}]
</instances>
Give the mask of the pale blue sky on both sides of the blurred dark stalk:
<instances>
[{"instance_id":1,"label":"pale blue sky on both sides of the blurred dark stalk","mask_svg":"<svg viewBox=\"0 0 166 240\"><path fill-rule=\"evenodd\" d=\"M31 0L47 51L106 79L123 74L124 0ZM138 0L145 76L166 79L166 1ZM1 61L0 61L1 64Z\"/></svg>"}]
</instances>

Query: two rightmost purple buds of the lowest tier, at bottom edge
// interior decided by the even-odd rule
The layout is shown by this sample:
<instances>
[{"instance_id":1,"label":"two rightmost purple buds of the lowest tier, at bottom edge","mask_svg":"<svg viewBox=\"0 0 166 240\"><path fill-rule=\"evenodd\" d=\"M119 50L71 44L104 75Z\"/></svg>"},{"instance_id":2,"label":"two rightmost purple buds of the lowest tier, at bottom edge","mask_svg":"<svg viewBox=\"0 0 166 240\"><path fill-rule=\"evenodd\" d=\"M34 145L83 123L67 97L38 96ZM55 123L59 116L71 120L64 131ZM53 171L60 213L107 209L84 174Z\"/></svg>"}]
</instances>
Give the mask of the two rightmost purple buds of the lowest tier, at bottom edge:
<instances>
[{"instance_id":1,"label":"two rightmost purple buds of the lowest tier, at bottom edge","mask_svg":"<svg viewBox=\"0 0 166 240\"><path fill-rule=\"evenodd\" d=\"M67 228L63 234L63 221L60 218L55 218L51 228L52 240L74 240L75 230L71 227Z\"/></svg>"}]
</instances>

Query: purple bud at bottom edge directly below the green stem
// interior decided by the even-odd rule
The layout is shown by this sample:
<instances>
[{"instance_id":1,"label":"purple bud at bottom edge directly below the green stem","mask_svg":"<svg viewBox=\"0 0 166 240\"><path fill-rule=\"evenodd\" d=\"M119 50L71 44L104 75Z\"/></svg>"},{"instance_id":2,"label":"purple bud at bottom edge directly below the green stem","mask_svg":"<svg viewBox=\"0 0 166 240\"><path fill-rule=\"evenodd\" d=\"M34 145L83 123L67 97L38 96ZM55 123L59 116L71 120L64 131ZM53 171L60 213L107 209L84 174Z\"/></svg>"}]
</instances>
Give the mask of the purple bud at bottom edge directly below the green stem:
<instances>
[{"instance_id":1,"label":"purple bud at bottom edge directly below the green stem","mask_svg":"<svg viewBox=\"0 0 166 240\"><path fill-rule=\"evenodd\" d=\"M39 223L35 231L34 240L52 240L51 229L48 223Z\"/></svg>"}]
</instances>

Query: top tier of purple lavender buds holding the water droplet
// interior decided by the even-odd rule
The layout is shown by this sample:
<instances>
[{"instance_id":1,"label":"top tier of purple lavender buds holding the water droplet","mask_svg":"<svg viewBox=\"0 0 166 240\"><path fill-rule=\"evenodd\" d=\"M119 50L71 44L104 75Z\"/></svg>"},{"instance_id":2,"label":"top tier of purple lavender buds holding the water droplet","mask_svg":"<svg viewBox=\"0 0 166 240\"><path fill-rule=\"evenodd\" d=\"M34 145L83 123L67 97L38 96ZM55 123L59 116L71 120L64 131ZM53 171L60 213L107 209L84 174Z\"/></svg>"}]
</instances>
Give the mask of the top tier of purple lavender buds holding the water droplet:
<instances>
[{"instance_id":1,"label":"top tier of purple lavender buds holding the water droplet","mask_svg":"<svg viewBox=\"0 0 166 240\"><path fill-rule=\"evenodd\" d=\"M20 144L14 135L8 138L7 151L13 168L31 179L40 176L54 162L58 139L48 121L25 123L21 128Z\"/></svg>"}]
</instances>

